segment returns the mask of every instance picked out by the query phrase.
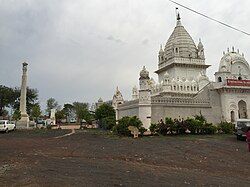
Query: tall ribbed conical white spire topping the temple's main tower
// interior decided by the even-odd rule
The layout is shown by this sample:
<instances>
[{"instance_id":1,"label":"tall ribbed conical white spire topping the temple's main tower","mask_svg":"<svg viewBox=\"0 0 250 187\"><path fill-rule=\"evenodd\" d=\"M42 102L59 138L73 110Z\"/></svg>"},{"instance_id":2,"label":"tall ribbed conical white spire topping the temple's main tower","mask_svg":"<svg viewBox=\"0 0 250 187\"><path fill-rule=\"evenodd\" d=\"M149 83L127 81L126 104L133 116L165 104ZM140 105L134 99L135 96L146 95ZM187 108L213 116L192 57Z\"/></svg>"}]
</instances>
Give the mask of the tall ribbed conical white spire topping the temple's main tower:
<instances>
[{"instance_id":1,"label":"tall ribbed conical white spire topping the temple's main tower","mask_svg":"<svg viewBox=\"0 0 250 187\"><path fill-rule=\"evenodd\" d=\"M165 57L170 59L174 56L184 57L184 58L197 58L198 49L186 31L186 29L182 26L180 18L177 18L177 24L169 37L166 45L165 45Z\"/></svg>"}]
</instances>

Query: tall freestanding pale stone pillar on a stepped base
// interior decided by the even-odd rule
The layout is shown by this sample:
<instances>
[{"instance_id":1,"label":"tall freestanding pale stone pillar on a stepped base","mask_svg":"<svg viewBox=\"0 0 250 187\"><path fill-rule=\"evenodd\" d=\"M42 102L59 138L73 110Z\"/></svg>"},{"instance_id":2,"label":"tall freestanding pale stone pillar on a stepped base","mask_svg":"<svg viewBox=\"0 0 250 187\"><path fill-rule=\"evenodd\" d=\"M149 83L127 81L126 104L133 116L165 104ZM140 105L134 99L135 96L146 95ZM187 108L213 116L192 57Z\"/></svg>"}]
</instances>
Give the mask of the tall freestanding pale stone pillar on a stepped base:
<instances>
[{"instance_id":1,"label":"tall freestanding pale stone pillar on a stepped base","mask_svg":"<svg viewBox=\"0 0 250 187\"><path fill-rule=\"evenodd\" d=\"M26 62L23 63L23 75L21 84L21 96L20 96L20 112L21 119L17 123L17 128L29 127L29 116L26 111L26 94L27 94L27 66Z\"/></svg>"}]
</instances>

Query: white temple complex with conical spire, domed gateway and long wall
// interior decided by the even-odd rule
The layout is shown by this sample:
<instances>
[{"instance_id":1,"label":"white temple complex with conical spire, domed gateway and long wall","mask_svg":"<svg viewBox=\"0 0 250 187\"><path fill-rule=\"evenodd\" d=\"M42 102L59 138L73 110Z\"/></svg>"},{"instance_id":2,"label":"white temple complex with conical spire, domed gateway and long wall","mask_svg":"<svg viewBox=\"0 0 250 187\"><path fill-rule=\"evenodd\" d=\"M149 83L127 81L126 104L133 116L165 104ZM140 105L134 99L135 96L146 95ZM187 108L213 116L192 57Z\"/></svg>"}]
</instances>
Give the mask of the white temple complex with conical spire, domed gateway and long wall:
<instances>
[{"instance_id":1,"label":"white temple complex with conical spire, domed gateway and long wall","mask_svg":"<svg viewBox=\"0 0 250 187\"><path fill-rule=\"evenodd\" d=\"M202 114L214 124L250 118L250 68L239 50L223 53L215 82L210 81L204 47L201 41L196 46L178 14L176 27L158 57L158 83L144 66L132 100L124 101L117 88L112 101L117 120L137 116L149 128L165 117L186 119Z\"/></svg>"}]
</instances>

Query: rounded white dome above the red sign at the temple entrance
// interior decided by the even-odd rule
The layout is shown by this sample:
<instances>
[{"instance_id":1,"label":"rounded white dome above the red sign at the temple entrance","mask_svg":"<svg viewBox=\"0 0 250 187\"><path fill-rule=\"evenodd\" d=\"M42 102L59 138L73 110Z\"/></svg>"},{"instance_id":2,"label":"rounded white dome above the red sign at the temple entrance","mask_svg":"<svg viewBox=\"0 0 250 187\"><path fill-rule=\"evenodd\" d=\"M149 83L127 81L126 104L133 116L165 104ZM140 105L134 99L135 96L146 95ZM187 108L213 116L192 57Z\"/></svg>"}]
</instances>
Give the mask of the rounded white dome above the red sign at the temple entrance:
<instances>
[{"instance_id":1,"label":"rounded white dome above the red sign at the temple entrance","mask_svg":"<svg viewBox=\"0 0 250 187\"><path fill-rule=\"evenodd\" d=\"M247 63L243 55L238 52L232 51L224 54L224 56L221 58L219 72L230 72L231 66L236 62L243 63L247 67L249 67L249 64Z\"/></svg>"}]
</instances>

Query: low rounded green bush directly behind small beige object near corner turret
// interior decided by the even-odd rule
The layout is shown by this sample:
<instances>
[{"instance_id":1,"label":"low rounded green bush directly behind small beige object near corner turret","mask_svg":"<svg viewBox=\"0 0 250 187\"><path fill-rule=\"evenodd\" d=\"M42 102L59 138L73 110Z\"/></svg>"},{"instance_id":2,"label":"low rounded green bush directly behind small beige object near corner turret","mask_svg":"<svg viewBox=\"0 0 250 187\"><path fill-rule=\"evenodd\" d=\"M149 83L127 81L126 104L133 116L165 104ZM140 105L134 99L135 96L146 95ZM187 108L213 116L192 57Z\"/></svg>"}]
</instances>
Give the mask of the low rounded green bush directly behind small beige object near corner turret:
<instances>
[{"instance_id":1,"label":"low rounded green bush directly behind small beige object near corner turret","mask_svg":"<svg viewBox=\"0 0 250 187\"><path fill-rule=\"evenodd\" d=\"M135 126L138 128L139 131L144 130L142 129L143 127L141 120L136 116L133 117L125 116L121 118L120 120L118 120L118 124L116 124L112 130L114 133L118 135L131 136L131 132L130 130L128 130L129 126Z\"/></svg>"}]
</instances>

